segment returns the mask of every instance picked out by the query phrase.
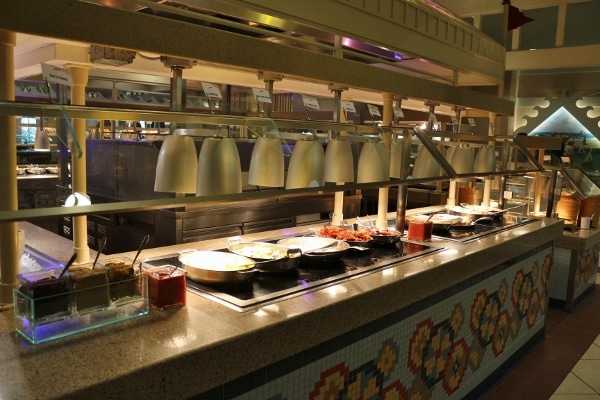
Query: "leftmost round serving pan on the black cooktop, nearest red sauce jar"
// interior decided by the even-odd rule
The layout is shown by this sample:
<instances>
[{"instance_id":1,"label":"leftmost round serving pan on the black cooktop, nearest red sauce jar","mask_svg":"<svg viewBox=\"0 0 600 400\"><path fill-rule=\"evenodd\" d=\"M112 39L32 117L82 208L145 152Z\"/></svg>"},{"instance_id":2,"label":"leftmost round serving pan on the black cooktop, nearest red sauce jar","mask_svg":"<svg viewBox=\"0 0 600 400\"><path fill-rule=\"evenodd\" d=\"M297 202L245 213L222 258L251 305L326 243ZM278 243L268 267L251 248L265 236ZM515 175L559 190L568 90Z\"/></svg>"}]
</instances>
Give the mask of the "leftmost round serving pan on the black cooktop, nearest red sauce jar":
<instances>
[{"instance_id":1,"label":"leftmost round serving pan on the black cooktop, nearest red sauce jar","mask_svg":"<svg viewBox=\"0 0 600 400\"><path fill-rule=\"evenodd\" d=\"M256 262L221 251L190 251L179 256L187 276L202 283L239 283L252 278Z\"/></svg>"}]
</instances>

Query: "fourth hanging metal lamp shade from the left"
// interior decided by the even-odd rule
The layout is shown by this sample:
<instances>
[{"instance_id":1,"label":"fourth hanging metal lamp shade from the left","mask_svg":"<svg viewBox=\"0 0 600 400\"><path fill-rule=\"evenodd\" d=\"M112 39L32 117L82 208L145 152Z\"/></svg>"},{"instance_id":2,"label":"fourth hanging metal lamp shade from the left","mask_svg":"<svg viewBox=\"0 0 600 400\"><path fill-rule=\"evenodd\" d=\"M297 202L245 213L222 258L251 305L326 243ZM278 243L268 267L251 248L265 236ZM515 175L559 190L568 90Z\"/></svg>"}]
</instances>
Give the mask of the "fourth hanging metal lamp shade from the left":
<instances>
[{"instance_id":1,"label":"fourth hanging metal lamp shade from the left","mask_svg":"<svg viewBox=\"0 0 600 400\"><path fill-rule=\"evenodd\" d=\"M286 189L318 187L324 184L325 152L319 142L299 140L288 167Z\"/></svg>"}]
</instances>

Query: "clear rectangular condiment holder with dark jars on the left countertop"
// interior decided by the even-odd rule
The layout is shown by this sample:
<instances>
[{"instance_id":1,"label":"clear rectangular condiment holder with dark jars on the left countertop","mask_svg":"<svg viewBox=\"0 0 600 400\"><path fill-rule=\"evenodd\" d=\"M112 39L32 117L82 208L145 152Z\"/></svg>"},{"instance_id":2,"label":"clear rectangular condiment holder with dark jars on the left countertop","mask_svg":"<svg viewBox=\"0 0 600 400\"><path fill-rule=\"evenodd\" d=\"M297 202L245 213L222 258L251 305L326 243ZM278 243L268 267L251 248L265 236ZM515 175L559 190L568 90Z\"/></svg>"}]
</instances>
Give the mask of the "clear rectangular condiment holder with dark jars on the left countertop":
<instances>
[{"instance_id":1,"label":"clear rectangular condiment holder with dark jars on the left countertop","mask_svg":"<svg viewBox=\"0 0 600 400\"><path fill-rule=\"evenodd\" d=\"M96 298L98 291L122 293L123 285L136 289L131 295L117 299L104 298L95 306L87 303L86 307L78 310L77 305L78 302L81 304L82 298ZM30 343L39 344L141 317L149 312L148 280L143 274L127 281L81 290L71 290L73 285L68 287L70 290L58 295L37 292L42 297L36 291L24 293L20 289L13 289L14 325L17 332Z\"/></svg>"}]
</instances>

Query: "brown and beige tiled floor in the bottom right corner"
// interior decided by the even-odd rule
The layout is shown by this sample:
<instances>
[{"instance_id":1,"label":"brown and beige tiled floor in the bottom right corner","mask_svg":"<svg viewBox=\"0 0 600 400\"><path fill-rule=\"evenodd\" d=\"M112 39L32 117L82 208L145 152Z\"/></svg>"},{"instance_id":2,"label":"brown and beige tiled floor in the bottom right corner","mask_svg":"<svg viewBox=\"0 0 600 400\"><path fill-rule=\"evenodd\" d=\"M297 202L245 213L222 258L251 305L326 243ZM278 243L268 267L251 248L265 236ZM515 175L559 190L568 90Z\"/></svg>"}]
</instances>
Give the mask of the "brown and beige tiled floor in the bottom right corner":
<instances>
[{"instance_id":1,"label":"brown and beige tiled floor in the bottom right corner","mask_svg":"<svg viewBox=\"0 0 600 400\"><path fill-rule=\"evenodd\" d=\"M600 400L600 285L573 312L551 308L545 340L485 400Z\"/></svg>"}]
</instances>

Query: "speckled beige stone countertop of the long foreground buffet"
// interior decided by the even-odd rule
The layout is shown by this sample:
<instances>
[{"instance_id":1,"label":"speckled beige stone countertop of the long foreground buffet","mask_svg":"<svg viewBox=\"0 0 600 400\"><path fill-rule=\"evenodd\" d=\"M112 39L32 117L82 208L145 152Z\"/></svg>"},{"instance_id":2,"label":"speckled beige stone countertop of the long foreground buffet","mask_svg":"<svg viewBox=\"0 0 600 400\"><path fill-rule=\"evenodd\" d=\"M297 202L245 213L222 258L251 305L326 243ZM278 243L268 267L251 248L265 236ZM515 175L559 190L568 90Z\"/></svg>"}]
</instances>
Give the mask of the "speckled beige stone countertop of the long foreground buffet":
<instances>
[{"instance_id":1,"label":"speckled beige stone countertop of the long foreground buffet","mask_svg":"<svg viewBox=\"0 0 600 400\"><path fill-rule=\"evenodd\" d=\"M70 241L40 232L30 224L21 226L26 231L26 242L35 243L38 250L57 260L71 255ZM307 227L297 227L244 235L243 239L264 240L306 232ZM340 338L346 344L360 342L358 336L367 335L367 330L382 321L391 323L392 316L399 319L407 310L424 310L432 299L438 297L439 301L442 295L450 298L464 287L487 279L492 272L508 271L515 263L531 264L527 257L551 251L552 241L562 233L559 220L542 218L464 244L434 239L429 244L443 246L444 251L258 310L240 313L188 292L184 307L151 309L148 316L35 346L15 332L12 312L1 312L0 398L190 398L201 393L204 397L199 398L231 398L228 391L232 388L256 389L260 386L257 380L260 384L271 382L265 371L279 371L281 379L284 372L293 374L301 366L290 364L297 363L299 354L303 362L313 357L322 361L322 356L313 353L328 354L333 351L329 348L332 343L339 347ZM226 238L214 239L147 249L141 257L153 258L192 247L226 246ZM131 257L134 253L123 255ZM536 259L534 264L538 263ZM534 271L538 269L534 267ZM522 268L516 276L521 275ZM508 284L514 285L512 281ZM492 292L491 288L487 290ZM468 307L465 302L465 319L469 317ZM526 332L522 343L515 339L515 351L543 335L544 323L540 316L536 332ZM406 365L404 361L400 364ZM230 385L234 380L235 385ZM319 381L319 374L308 380L309 385L312 380ZM403 382L408 385L406 379ZM436 382L439 379L432 385L442 386ZM221 397L215 397L217 394Z\"/></svg>"}]
</instances>

